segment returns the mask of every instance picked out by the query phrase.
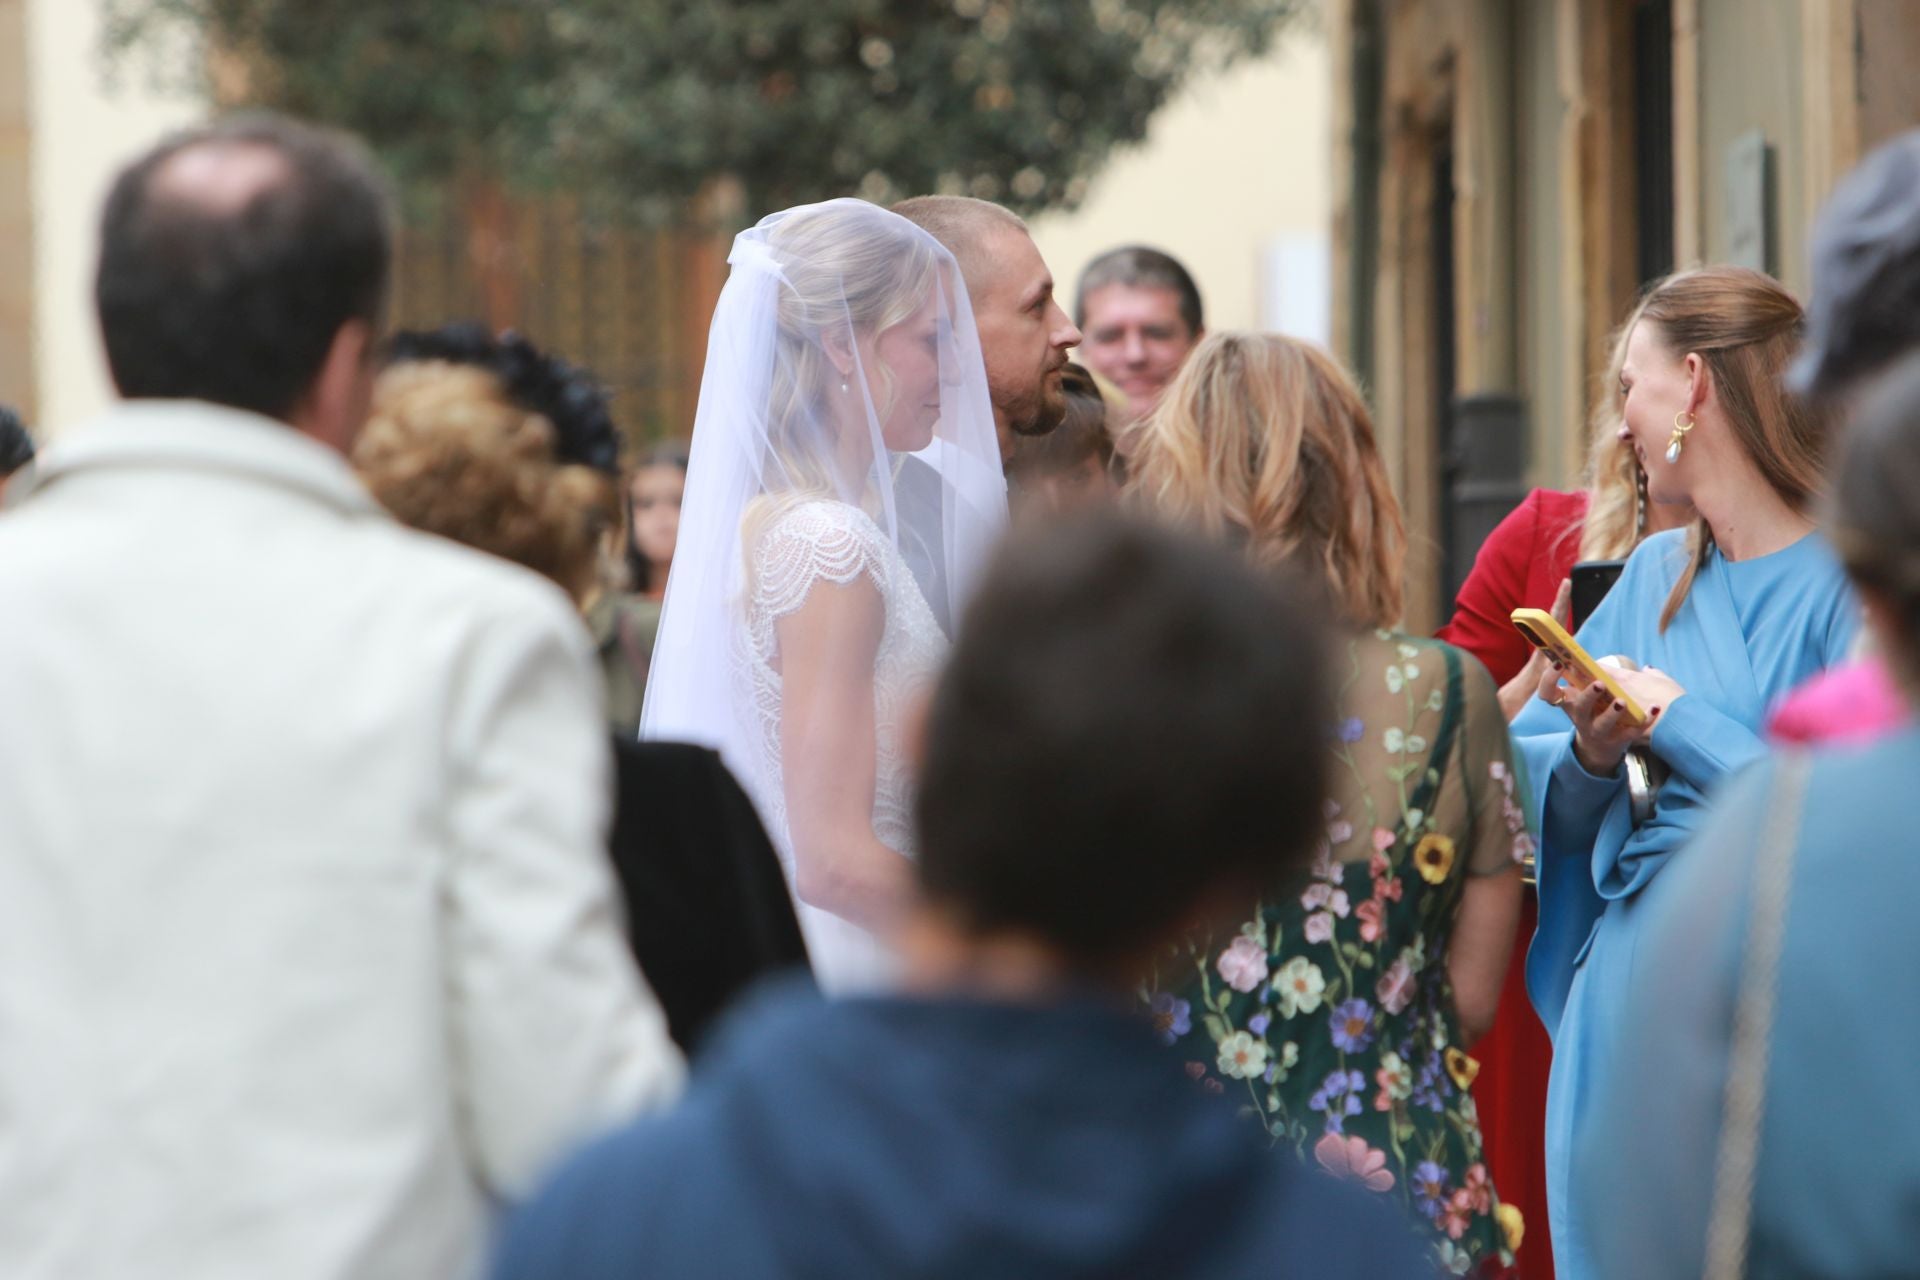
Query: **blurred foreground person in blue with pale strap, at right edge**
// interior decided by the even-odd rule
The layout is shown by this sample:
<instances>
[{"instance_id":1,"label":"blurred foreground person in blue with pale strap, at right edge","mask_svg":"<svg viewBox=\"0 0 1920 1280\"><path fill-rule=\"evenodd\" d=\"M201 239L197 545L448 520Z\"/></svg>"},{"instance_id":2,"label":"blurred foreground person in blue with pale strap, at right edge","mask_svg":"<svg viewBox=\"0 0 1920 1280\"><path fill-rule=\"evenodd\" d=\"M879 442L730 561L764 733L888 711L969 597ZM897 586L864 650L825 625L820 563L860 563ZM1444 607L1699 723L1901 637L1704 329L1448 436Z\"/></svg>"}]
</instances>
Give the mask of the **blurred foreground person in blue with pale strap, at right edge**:
<instances>
[{"instance_id":1,"label":"blurred foreground person in blue with pale strap, at right edge","mask_svg":"<svg viewBox=\"0 0 1920 1280\"><path fill-rule=\"evenodd\" d=\"M1912 706L1920 357L1857 403L1826 520ZM1661 875L1592 1103L1605 1140L1574 1153L1603 1222L1596 1274L1912 1274L1914 777L1910 718L1866 745L1780 752L1715 794Z\"/></svg>"}]
</instances>

